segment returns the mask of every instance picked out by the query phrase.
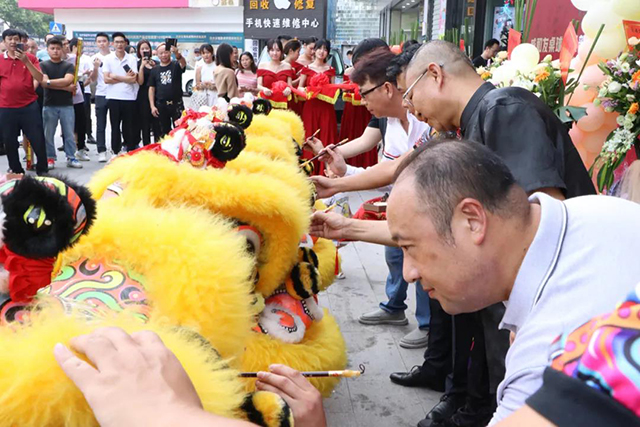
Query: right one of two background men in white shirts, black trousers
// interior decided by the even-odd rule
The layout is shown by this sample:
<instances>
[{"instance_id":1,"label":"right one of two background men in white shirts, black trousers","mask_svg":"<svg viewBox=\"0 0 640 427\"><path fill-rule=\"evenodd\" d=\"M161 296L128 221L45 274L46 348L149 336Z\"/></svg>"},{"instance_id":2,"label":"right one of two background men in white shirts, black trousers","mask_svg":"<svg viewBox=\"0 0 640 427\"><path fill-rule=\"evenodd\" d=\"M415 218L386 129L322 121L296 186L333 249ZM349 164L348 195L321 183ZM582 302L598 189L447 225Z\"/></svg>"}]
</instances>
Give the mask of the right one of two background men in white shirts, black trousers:
<instances>
[{"instance_id":1,"label":"right one of two background men in white shirts, black trousers","mask_svg":"<svg viewBox=\"0 0 640 427\"><path fill-rule=\"evenodd\" d=\"M118 154L122 148L122 139L126 151L136 149L134 138L134 115L138 96L138 63L135 56L125 52L127 45L123 33L113 33L115 52L105 59L104 82L107 84L107 107L111 122L111 149ZM120 134L122 125L122 135Z\"/></svg>"}]
</instances>

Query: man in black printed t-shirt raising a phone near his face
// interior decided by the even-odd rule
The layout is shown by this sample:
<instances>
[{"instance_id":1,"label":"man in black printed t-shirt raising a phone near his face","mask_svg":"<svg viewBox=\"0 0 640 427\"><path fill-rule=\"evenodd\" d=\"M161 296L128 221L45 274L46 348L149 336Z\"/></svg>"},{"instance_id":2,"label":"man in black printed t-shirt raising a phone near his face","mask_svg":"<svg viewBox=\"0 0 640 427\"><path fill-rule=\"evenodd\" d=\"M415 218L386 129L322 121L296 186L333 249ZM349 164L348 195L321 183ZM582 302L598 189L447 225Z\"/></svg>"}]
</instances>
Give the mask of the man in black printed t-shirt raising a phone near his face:
<instances>
[{"instance_id":1,"label":"man in black printed t-shirt raising a phone near his face","mask_svg":"<svg viewBox=\"0 0 640 427\"><path fill-rule=\"evenodd\" d=\"M171 54L176 57L175 61L171 60ZM175 39L171 44L163 43L158 46L158 57L160 65L151 70L149 77L149 104L151 114L160 121L158 138L162 138L171 131L184 110L182 74L187 67L187 61L178 51Z\"/></svg>"}]
</instances>

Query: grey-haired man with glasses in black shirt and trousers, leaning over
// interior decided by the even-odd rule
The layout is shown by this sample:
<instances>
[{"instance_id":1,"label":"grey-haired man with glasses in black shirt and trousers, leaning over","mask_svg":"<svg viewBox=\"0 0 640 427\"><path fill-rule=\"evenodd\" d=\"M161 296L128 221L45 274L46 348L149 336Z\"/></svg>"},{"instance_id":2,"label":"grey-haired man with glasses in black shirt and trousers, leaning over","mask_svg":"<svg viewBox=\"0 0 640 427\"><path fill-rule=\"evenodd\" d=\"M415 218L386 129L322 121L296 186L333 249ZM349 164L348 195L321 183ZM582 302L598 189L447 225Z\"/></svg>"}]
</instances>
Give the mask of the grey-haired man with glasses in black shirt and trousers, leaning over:
<instances>
[{"instance_id":1,"label":"grey-haired man with glasses in black shirt and trousers, leaning over","mask_svg":"<svg viewBox=\"0 0 640 427\"><path fill-rule=\"evenodd\" d=\"M528 193L542 191L560 199L595 194L568 130L555 114L525 89L496 89L484 82L453 44L425 44L407 69L406 79L405 101L432 127L459 129L465 139L490 147ZM496 304L478 313L454 316L453 387L421 427L489 421L488 398L495 396L504 377L508 349L504 331L498 330L503 313L504 306ZM468 369L461 366L466 365L467 355ZM491 403L495 407L495 401Z\"/></svg>"}]
</instances>

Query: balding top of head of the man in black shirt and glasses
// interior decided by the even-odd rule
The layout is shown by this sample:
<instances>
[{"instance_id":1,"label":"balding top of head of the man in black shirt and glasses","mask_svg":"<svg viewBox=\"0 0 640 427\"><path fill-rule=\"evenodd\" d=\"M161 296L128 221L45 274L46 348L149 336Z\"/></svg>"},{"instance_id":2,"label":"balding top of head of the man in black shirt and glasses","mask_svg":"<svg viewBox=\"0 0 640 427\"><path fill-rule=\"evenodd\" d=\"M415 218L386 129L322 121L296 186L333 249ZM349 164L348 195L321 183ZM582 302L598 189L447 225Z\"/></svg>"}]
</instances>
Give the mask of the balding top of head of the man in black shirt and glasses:
<instances>
[{"instance_id":1,"label":"balding top of head of the man in black shirt and glasses","mask_svg":"<svg viewBox=\"0 0 640 427\"><path fill-rule=\"evenodd\" d=\"M422 45L411 60L407 71L419 74L431 63L440 65L447 74L462 75L476 72L471 60L460 48L443 40L432 40Z\"/></svg>"}]
</instances>

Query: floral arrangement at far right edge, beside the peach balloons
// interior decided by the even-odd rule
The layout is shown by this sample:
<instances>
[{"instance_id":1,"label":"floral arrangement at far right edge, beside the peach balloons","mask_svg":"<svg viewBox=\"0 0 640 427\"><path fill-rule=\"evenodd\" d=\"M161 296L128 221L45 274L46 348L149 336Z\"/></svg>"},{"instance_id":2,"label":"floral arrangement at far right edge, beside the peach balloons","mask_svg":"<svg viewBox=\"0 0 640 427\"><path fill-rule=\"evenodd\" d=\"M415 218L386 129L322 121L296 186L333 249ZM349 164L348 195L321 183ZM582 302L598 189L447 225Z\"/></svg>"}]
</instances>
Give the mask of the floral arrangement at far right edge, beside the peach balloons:
<instances>
[{"instance_id":1,"label":"floral arrangement at far right edge, beside the peach balloons","mask_svg":"<svg viewBox=\"0 0 640 427\"><path fill-rule=\"evenodd\" d=\"M640 154L640 40L630 38L629 46L629 52L599 64L607 79L600 86L594 103L602 105L606 112L620 114L618 128L609 135L590 170L593 173L599 169L600 191L613 184L613 172L629 150L635 147Z\"/></svg>"}]
</instances>

